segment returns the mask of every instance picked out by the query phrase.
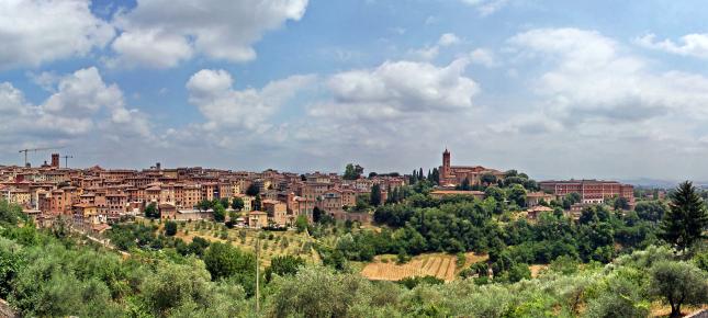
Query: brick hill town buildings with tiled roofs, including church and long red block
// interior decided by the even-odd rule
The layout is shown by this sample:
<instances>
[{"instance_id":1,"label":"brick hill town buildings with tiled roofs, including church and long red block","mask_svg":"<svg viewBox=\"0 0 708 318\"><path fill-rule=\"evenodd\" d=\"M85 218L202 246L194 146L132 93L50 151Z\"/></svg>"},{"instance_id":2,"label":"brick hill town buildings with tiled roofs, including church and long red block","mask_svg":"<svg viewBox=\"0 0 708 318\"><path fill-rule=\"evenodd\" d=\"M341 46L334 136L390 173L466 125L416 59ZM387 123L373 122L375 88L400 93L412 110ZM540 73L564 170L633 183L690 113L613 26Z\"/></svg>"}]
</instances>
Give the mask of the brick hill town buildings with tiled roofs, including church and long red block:
<instances>
[{"instance_id":1,"label":"brick hill town buildings with tiled roofs, including church and long red block","mask_svg":"<svg viewBox=\"0 0 708 318\"><path fill-rule=\"evenodd\" d=\"M0 167L0 193L8 202L19 204L38 225L50 226L57 216L71 216L78 228L102 231L108 225L142 216L148 206L160 218L170 220L213 219L212 202L218 201L226 214L236 216L238 227L291 227L299 216L313 220L318 209L338 220L370 223L372 189L379 203L390 200L413 178L430 179L436 185L434 197L470 195L484 197L482 185L503 182L508 172L481 166L451 166L448 149L440 167L423 175L400 173L363 175L363 168L350 164L339 173L290 173L218 170L201 167L149 169L60 168L59 154L40 167ZM528 179L528 177L526 177ZM515 181L516 182L516 181ZM542 181L526 186L528 216L552 211L551 201L571 193L580 194L569 213L577 217L584 206L621 198L628 208L634 206L633 188L616 181L567 180ZM239 202L234 206L234 201ZM375 207L374 204L373 207ZM544 206L543 206L544 205ZM233 212L236 209L236 214ZM218 217L217 217L218 219ZM223 218L222 218L223 219Z\"/></svg>"}]
</instances>

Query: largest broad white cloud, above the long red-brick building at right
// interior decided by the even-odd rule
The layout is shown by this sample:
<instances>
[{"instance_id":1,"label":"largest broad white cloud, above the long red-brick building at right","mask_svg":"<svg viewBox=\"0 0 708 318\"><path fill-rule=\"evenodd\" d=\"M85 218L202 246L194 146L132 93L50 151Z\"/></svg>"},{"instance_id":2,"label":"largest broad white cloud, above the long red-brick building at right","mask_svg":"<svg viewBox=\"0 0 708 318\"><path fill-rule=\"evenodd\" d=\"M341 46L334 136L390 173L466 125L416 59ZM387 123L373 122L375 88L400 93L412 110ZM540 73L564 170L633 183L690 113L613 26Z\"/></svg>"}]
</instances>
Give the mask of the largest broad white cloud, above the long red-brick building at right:
<instances>
[{"instance_id":1,"label":"largest broad white cloud, above the long red-brick building at right","mask_svg":"<svg viewBox=\"0 0 708 318\"><path fill-rule=\"evenodd\" d=\"M521 55L551 65L533 91L543 111L566 126L602 121L631 124L667 114L707 115L708 79L678 71L652 71L640 57L593 31L540 29L509 39Z\"/></svg>"}]
</instances>

